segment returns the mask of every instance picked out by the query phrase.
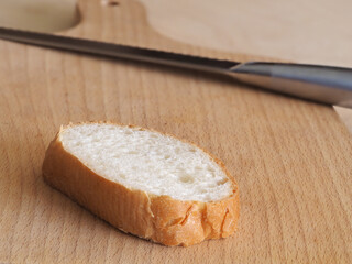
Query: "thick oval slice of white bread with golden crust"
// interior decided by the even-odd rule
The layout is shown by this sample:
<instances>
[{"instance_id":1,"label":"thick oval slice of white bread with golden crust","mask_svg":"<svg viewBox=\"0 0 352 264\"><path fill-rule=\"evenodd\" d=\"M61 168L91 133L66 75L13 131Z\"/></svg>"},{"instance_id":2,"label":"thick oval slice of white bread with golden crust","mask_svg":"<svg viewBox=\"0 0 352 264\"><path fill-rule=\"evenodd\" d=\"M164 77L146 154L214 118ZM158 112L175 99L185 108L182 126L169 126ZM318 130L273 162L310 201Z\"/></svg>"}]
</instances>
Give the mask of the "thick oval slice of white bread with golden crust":
<instances>
[{"instance_id":1,"label":"thick oval slice of white bread with golden crust","mask_svg":"<svg viewBox=\"0 0 352 264\"><path fill-rule=\"evenodd\" d=\"M101 122L62 127L43 176L118 229L165 245L237 229L239 189L223 164L155 131Z\"/></svg>"}]
</instances>

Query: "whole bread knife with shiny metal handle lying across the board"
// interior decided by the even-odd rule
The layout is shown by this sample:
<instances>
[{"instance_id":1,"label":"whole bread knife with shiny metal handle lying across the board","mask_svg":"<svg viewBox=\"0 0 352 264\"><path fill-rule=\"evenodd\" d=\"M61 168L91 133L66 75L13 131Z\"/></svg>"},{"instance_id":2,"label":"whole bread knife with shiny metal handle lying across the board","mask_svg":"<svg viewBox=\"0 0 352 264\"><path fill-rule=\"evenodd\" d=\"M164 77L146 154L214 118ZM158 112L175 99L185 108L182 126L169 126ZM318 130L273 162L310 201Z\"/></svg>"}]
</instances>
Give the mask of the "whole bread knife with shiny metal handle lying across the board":
<instances>
[{"instance_id":1,"label":"whole bread knife with shiny metal handle lying across the board","mask_svg":"<svg viewBox=\"0 0 352 264\"><path fill-rule=\"evenodd\" d=\"M6 28L0 28L0 38L230 75L241 82L271 91L352 108L352 68L290 63L239 63Z\"/></svg>"}]
</instances>

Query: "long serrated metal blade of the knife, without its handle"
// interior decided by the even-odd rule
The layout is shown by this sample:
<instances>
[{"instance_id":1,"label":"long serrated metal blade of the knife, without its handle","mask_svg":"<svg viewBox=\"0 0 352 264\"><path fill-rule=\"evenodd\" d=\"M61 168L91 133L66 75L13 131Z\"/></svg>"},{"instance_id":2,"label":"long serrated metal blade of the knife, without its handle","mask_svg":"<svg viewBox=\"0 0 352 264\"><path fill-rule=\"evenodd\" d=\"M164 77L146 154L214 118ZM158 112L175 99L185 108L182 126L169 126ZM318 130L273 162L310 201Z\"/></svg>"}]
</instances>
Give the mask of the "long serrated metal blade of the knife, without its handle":
<instances>
[{"instance_id":1,"label":"long serrated metal blade of the knife, without its handle","mask_svg":"<svg viewBox=\"0 0 352 264\"><path fill-rule=\"evenodd\" d=\"M155 64L170 65L183 68L207 70L211 73L228 73L239 65L231 61L191 56L170 52L162 52L142 47L133 47L113 43L97 42L76 37L53 35L38 32L0 28L0 38L26 43L31 45L59 48L70 52L103 55L116 58L128 58Z\"/></svg>"}]
</instances>

